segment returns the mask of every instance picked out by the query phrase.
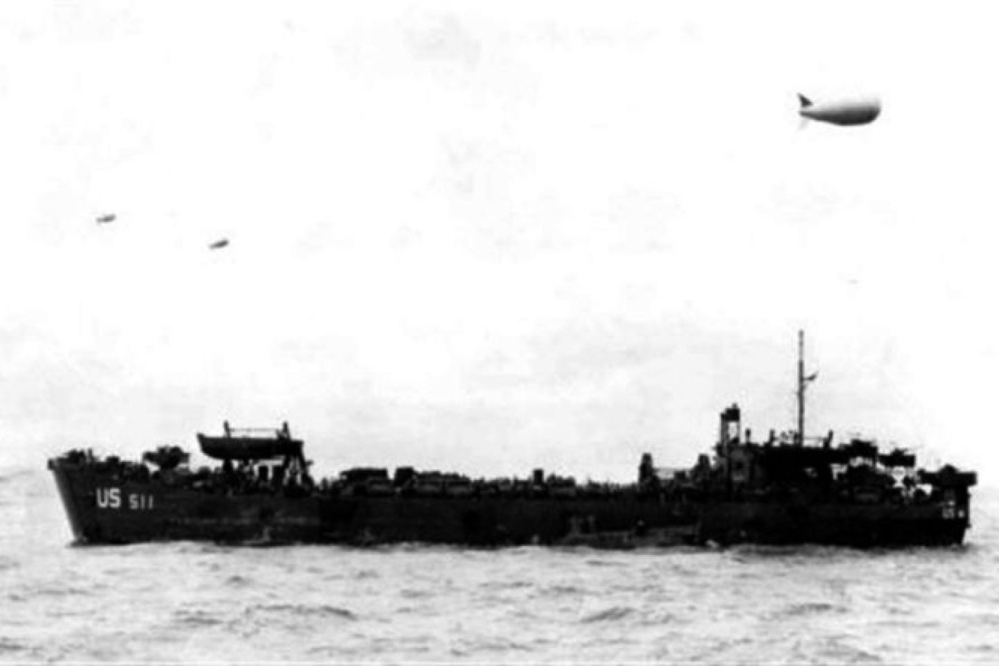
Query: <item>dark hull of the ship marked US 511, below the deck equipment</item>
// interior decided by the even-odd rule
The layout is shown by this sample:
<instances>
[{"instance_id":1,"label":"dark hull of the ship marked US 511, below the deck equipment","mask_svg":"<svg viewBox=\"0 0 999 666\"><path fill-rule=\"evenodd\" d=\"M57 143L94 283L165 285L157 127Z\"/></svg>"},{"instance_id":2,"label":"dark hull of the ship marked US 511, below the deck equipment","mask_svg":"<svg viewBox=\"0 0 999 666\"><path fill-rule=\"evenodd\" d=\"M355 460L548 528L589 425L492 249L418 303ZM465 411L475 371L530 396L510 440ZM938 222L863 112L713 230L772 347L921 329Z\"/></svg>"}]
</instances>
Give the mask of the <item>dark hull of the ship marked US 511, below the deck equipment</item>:
<instances>
[{"instance_id":1,"label":"dark hull of the ship marked US 511, below the deck equipment","mask_svg":"<svg viewBox=\"0 0 999 666\"><path fill-rule=\"evenodd\" d=\"M659 496L210 494L53 467L76 540L134 543L425 542L472 546L818 543L959 544L968 526L939 503L667 501Z\"/></svg>"}]
</instances>

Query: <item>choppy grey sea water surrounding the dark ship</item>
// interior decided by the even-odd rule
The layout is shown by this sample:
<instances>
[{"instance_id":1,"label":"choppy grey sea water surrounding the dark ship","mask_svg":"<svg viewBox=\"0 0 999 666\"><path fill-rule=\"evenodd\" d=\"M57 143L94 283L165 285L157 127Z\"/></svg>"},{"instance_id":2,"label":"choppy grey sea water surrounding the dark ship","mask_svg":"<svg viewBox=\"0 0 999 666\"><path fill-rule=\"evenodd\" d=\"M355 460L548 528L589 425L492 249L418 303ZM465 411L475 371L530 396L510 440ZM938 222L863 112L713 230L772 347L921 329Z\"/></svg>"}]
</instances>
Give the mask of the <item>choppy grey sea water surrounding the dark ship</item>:
<instances>
[{"instance_id":1,"label":"choppy grey sea water surrounding the dark ship","mask_svg":"<svg viewBox=\"0 0 999 666\"><path fill-rule=\"evenodd\" d=\"M71 545L0 472L0 661L999 661L999 494L963 547Z\"/></svg>"}]
</instances>

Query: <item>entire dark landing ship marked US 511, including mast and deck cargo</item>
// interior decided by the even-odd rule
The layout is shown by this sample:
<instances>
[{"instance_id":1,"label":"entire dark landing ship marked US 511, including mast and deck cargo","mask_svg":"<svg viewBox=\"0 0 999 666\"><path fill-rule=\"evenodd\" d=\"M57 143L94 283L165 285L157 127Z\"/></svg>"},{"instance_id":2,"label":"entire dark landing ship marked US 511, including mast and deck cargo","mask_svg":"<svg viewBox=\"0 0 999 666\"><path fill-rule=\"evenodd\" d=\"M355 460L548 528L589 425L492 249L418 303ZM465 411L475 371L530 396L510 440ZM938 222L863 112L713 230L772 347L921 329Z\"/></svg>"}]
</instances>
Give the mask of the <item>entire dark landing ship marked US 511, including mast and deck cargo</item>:
<instances>
[{"instance_id":1,"label":"entire dark landing ship marked US 511, including mast and deck cargo","mask_svg":"<svg viewBox=\"0 0 999 666\"><path fill-rule=\"evenodd\" d=\"M279 428L198 433L213 464L180 446L141 459L76 448L48 461L78 544L212 541L376 546L634 548L823 544L950 546L970 522L973 471L928 470L910 450L833 432L805 436L799 332L796 428L754 440L737 404L719 414L713 450L681 469L641 455L630 483L353 467L317 479L302 439Z\"/></svg>"}]
</instances>

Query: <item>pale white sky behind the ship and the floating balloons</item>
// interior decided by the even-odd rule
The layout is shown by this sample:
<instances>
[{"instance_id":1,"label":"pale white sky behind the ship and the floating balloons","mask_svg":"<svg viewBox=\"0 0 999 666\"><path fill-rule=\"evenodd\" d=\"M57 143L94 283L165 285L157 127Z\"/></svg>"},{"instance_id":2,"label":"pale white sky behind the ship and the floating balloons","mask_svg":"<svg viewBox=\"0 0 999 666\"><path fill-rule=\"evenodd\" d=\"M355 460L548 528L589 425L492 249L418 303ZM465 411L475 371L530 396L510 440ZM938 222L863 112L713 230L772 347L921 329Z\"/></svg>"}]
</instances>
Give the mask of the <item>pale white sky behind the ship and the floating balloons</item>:
<instances>
[{"instance_id":1,"label":"pale white sky behind the ship and the floating balloons","mask_svg":"<svg viewBox=\"0 0 999 666\"><path fill-rule=\"evenodd\" d=\"M328 473L626 479L791 427L804 328L812 433L989 483L993 19L5 2L0 465L287 419Z\"/></svg>"}]
</instances>

